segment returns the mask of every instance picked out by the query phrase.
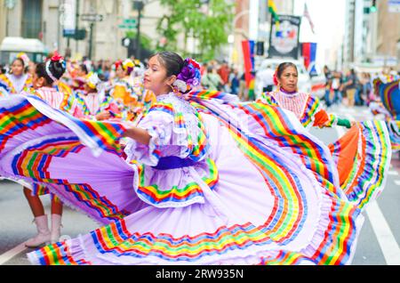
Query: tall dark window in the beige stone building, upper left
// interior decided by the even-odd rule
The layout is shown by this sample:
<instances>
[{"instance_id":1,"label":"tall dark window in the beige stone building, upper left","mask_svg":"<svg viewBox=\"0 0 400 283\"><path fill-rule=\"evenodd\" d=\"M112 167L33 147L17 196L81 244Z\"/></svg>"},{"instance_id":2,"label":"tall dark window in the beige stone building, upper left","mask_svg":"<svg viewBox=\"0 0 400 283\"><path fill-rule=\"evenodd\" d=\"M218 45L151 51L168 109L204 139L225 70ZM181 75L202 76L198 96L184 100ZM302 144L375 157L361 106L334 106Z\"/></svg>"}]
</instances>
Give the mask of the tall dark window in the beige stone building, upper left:
<instances>
[{"instance_id":1,"label":"tall dark window in the beige stone building, upper left","mask_svg":"<svg viewBox=\"0 0 400 283\"><path fill-rule=\"evenodd\" d=\"M23 0L22 36L39 38L42 31L42 0Z\"/></svg>"}]
</instances>

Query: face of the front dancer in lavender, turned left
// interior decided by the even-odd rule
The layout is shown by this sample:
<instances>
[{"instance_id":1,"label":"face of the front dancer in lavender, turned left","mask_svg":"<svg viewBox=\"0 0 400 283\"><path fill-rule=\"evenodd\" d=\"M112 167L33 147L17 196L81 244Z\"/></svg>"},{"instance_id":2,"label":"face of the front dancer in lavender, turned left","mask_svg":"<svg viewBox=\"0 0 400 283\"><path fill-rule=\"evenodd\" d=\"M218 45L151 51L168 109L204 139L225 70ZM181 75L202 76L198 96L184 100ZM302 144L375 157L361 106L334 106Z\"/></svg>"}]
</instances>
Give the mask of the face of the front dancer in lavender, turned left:
<instances>
[{"instance_id":1,"label":"face of the front dancer in lavender, turned left","mask_svg":"<svg viewBox=\"0 0 400 283\"><path fill-rule=\"evenodd\" d=\"M176 76L167 77L167 71L160 62L158 55L153 56L148 61L148 69L144 74L144 87L155 93L156 95L170 93L172 84L176 80Z\"/></svg>"}]
</instances>

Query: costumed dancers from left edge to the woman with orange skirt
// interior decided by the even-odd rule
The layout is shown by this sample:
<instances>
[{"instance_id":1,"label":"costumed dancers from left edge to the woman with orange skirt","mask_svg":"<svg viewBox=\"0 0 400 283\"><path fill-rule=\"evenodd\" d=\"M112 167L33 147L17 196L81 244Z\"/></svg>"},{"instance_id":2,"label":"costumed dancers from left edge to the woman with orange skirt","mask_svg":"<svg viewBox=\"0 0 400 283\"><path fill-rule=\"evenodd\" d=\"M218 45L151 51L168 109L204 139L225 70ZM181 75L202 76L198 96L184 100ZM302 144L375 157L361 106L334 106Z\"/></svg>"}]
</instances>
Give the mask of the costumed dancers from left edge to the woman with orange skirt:
<instances>
[{"instance_id":1,"label":"costumed dancers from left edge to the woman with orange skirt","mask_svg":"<svg viewBox=\"0 0 400 283\"><path fill-rule=\"evenodd\" d=\"M24 186L35 216L31 263L348 264L385 185L384 122L328 113L299 93L292 63L246 103L226 62L172 52L146 68L21 55L11 70L0 75L0 174ZM326 146L311 126L348 132ZM60 242L63 205L102 226Z\"/></svg>"}]
</instances>

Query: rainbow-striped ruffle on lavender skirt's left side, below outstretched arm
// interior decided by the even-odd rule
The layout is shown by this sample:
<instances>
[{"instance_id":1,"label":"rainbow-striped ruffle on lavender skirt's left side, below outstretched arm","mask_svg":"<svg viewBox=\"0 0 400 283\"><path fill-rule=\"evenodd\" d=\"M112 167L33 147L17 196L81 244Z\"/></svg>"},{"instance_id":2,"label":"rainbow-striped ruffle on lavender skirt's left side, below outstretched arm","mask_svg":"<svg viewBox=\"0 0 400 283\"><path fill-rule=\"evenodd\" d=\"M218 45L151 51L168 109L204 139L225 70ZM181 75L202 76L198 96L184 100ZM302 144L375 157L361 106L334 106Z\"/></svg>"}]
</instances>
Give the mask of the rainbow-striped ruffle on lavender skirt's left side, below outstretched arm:
<instances>
[{"instance_id":1,"label":"rainbow-striped ruffle on lavender skirt's left side, below outstretched arm","mask_svg":"<svg viewBox=\"0 0 400 283\"><path fill-rule=\"evenodd\" d=\"M49 168L54 158L73 156L85 146L96 156L104 151L122 155L116 141L124 133L123 125L80 120L52 109L36 96L15 95L0 103L0 159L3 161L0 171L4 177L34 183L33 190L38 195L49 190L59 195L62 188L82 203L79 207L82 211L89 212L100 222L121 219L129 214L108 198L99 196L89 184L54 179ZM47 128L52 128L52 133L46 132ZM32 131L44 136L37 139ZM20 144L15 144L17 135ZM71 201L65 200L70 204Z\"/></svg>"}]
</instances>

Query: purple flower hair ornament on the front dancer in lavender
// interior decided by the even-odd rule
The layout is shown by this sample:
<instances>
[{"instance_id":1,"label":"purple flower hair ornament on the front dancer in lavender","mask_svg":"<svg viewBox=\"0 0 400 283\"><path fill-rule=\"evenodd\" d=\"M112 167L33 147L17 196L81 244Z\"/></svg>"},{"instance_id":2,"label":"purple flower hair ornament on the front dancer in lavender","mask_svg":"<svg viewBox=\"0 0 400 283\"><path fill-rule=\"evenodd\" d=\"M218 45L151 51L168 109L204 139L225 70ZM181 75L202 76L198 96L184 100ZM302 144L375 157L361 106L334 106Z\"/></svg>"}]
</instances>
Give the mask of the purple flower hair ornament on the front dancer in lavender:
<instances>
[{"instance_id":1,"label":"purple flower hair ornament on the front dancer in lavender","mask_svg":"<svg viewBox=\"0 0 400 283\"><path fill-rule=\"evenodd\" d=\"M172 84L173 92L186 94L195 86L200 85L200 81L200 64L195 60L188 58L184 61L180 74L178 75L176 81Z\"/></svg>"}]
</instances>

